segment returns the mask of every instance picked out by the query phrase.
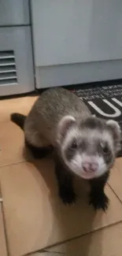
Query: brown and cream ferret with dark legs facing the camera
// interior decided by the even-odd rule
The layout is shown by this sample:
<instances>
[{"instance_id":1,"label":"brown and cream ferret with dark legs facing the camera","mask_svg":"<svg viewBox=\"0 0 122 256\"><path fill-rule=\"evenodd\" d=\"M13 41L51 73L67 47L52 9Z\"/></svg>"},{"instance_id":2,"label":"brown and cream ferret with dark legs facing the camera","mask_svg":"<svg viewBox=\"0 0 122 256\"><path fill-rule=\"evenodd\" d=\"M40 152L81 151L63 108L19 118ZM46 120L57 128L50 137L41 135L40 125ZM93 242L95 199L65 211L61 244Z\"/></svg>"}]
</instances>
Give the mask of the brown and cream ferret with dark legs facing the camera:
<instances>
[{"instance_id":1,"label":"brown and cream ferret with dark legs facing the camera","mask_svg":"<svg viewBox=\"0 0 122 256\"><path fill-rule=\"evenodd\" d=\"M80 98L62 87L47 89L27 117L12 113L11 121L24 130L26 146L35 157L45 157L54 149L58 192L65 204L76 202L75 174L88 180L94 210L107 210L109 198L104 188L120 150L116 121L93 117Z\"/></svg>"}]
</instances>

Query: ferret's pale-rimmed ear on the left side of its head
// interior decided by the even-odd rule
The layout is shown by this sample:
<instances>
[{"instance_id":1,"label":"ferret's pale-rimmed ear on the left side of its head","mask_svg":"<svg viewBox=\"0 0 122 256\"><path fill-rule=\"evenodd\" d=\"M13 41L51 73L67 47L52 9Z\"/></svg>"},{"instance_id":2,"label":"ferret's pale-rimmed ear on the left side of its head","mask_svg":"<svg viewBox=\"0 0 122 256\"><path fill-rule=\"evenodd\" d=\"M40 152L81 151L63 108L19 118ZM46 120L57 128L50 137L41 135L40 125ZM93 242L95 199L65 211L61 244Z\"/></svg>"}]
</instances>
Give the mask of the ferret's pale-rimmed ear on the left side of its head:
<instances>
[{"instance_id":1,"label":"ferret's pale-rimmed ear on the left side of its head","mask_svg":"<svg viewBox=\"0 0 122 256\"><path fill-rule=\"evenodd\" d=\"M57 139L58 142L65 137L68 128L76 122L76 119L72 116L65 116L61 119L57 126Z\"/></svg>"}]
</instances>

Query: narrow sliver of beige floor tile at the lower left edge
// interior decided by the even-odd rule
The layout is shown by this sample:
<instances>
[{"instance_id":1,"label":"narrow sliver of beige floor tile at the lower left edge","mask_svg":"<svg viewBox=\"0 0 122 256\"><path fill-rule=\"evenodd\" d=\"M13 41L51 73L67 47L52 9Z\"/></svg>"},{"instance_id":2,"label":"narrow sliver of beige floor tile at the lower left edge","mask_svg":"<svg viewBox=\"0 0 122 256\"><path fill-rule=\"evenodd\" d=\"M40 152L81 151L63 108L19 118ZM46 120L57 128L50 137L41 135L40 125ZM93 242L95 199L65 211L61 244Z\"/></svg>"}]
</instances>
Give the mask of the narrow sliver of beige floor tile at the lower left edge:
<instances>
[{"instance_id":1,"label":"narrow sliver of beige floor tile at the lower left edge","mask_svg":"<svg viewBox=\"0 0 122 256\"><path fill-rule=\"evenodd\" d=\"M7 256L6 251L6 239L3 228L3 218L2 218L2 204L0 203L0 255Z\"/></svg>"}]
</instances>

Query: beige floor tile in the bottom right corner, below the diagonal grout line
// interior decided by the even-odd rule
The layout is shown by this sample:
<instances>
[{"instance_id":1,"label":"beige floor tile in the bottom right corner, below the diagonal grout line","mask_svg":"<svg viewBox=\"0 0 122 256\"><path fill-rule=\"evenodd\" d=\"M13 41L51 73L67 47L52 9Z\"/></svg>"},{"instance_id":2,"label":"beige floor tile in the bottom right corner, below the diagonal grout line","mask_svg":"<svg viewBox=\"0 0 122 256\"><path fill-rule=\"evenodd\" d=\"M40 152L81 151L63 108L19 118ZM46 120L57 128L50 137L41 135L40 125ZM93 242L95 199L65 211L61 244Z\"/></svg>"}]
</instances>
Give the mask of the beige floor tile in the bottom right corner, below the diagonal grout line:
<instances>
[{"instance_id":1,"label":"beige floor tile in the bottom right corner, below the diagonal grout line","mask_svg":"<svg viewBox=\"0 0 122 256\"><path fill-rule=\"evenodd\" d=\"M73 239L48 251L67 256L121 256L122 223ZM41 256L41 254L40 254Z\"/></svg>"}]
</instances>

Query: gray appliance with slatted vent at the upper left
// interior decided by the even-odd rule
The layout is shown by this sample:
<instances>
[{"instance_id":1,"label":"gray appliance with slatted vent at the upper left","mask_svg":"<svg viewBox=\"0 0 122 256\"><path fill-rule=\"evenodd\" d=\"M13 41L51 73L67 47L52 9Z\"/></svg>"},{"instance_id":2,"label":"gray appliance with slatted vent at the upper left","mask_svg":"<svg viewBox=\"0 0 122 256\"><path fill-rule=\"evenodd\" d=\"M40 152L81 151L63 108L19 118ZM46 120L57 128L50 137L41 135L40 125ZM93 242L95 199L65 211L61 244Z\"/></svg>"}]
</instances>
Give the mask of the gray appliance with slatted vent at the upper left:
<instances>
[{"instance_id":1,"label":"gray appliance with slatted vent at the upper left","mask_svg":"<svg viewBox=\"0 0 122 256\"><path fill-rule=\"evenodd\" d=\"M0 1L0 96L35 90L28 0Z\"/></svg>"}]
</instances>

